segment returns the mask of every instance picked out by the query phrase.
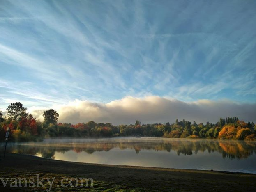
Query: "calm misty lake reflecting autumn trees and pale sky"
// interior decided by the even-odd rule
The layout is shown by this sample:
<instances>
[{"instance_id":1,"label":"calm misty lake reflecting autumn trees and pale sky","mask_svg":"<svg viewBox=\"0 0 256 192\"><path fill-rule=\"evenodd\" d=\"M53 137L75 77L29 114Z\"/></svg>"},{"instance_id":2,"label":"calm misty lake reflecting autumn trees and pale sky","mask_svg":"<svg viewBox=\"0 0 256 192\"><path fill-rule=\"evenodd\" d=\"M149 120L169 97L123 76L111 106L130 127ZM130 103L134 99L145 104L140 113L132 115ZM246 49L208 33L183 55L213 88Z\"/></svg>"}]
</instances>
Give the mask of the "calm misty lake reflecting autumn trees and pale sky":
<instances>
[{"instance_id":1,"label":"calm misty lake reflecting autumn trees and pale sky","mask_svg":"<svg viewBox=\"0 0 256 192\"><path fill-rule=\"evenodd\" d=\"M1 156L3 153L1 143ZM256 174L256 142L216 139L115 137L107 139L45 139L8 143L9 153L57 160Z\"/></svg>"}]
</instances>

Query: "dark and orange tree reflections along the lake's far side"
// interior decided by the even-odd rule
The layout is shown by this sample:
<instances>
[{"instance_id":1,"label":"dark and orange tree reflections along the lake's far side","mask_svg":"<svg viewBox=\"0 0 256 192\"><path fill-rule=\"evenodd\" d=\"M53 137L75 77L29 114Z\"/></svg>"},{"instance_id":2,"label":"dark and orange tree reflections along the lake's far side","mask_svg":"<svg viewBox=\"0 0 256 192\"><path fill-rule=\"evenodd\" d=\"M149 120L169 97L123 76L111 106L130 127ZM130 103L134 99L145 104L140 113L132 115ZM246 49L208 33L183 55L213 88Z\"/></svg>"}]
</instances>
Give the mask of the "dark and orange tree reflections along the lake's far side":
<instances>
[{"instance_id":1,"label":"dark and orange tree reflections along the lake's far side","mask_svg":"<svg viewBox=\"0 0 256 192\"><path fill-rule=\"evenodd\" d=\"M38 143L11 144L9 152L31 155L42 155L44 158L55 158L55 152L76 153L95 151L109 151L117 149L175 151L177 155L196 155L198 151L221 153L223 158L242 159L256 153L256 142L230 141L214 139L153 139L153 138L125 138L125 139L55 139Z\"/></svg>"}]
</instances>

